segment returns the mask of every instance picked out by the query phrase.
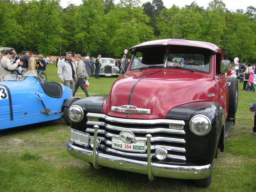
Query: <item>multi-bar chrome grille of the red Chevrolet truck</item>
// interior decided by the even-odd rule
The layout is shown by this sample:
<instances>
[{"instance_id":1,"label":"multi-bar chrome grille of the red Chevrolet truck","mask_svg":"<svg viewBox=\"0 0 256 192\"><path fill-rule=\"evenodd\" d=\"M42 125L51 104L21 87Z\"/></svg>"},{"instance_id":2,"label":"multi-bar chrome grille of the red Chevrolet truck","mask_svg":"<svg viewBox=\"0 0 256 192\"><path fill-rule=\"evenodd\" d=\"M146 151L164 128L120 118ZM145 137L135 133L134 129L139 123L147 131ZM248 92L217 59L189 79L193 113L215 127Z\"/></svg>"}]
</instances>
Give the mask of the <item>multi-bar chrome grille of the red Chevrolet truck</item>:
<instances>
[{"instance_id":1,"label":"multi-bar chrome grille of the red Chevrolet truck","mask_svg":"<svg viewBox=\"0 0 256 192\"><path fill-rule=\"evenodd\" d=\"M87 129L85 132L90 134L90 139L94 135L94 125L99 125L98 138L100 139L100 148L103 153L115 154L115 156L126 156L131 159L147 160L147 151L129 152L112 148L112 138L119 138L119 133L128 130L134 133L136 140L147 141L146 135L151 134L151 154L154 161L155 150L164 147L168 151L166 161L185 162L185 131L184 121L169 119L123 119L107 116L104 114L88 113ZM180 129L169 128L169 125L180 125ZM147 150L147 146L146 146Z\"/></svg>"}]
</instances>

